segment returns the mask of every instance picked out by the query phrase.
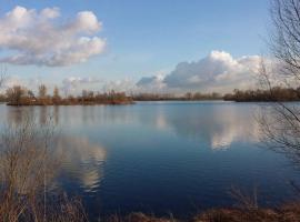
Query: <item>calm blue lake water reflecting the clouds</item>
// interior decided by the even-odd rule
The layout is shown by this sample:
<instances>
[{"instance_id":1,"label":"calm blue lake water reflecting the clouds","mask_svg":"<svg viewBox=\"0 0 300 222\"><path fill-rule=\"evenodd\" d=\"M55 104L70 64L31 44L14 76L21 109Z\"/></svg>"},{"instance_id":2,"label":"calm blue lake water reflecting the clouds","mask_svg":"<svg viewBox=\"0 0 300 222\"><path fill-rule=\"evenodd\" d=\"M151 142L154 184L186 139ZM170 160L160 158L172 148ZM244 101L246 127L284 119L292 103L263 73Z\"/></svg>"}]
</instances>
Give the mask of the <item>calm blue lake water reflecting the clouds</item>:
<instances>
[{"instance_id":1,"label":"calm blue lake water reflecting the clouds","mask_svg":"<svg viewBox=\"0 0 300 222\"><path fill-rule=\"evenodd\" d=\"M138 102L133 105L0 105L2 122L51 114L64 153L57 185L83 196L91 218L143 211L187 216L232 205L233 185L258 186L263 205L293 198L300 170L259 145L258 105Z\"/></svg>"}]
</instances>

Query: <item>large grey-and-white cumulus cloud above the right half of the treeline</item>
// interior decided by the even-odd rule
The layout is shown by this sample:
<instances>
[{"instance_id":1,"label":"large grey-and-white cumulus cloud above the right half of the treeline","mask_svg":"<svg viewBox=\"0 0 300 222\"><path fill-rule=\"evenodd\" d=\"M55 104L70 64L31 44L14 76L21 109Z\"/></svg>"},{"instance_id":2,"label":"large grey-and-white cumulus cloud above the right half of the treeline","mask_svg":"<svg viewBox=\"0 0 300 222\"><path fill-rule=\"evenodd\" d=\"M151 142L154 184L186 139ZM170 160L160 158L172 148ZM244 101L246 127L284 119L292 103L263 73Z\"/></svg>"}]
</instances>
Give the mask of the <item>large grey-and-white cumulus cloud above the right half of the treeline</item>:
<instances>
[{"instance_id":1,"label":"large grey-and-white cumulus cloud above the right half of the treeline","mask_svg":"<svg viewBox=\"0 0 300 222\"><path fill-rule=\"evenodd\" d=\"M166 91L219 91L251 88L259 72L260 57L247 56L234 59L224 51L212 51L196 62L181 62L163 79L142 78L137 85Z\"/></svg>"}]
</instances>

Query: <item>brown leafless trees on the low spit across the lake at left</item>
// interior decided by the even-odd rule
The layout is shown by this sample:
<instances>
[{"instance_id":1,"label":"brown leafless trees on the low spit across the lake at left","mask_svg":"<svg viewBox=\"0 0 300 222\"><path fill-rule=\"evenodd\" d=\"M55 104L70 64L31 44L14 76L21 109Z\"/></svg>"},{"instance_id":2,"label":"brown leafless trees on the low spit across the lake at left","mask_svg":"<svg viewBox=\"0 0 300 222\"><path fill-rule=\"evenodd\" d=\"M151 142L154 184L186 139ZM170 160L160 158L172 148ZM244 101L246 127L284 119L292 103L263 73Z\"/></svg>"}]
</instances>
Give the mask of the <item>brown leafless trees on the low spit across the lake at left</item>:
<instances>
[{"instance_id":1,"label":"brown leafless trees on the low spit across the lake at left","mask_svg":"<svg viewBox=\"0 0 300 222\"><path fill-rule=\"evenodd\" d=\"M133 103L130 97L124 92L99 93L83 90L81 95L68 95L62 98L59 89L56 87L52 95L48 94L48 89L41 84L36 95L31 90L21 85L14 85L7 89L4 94L0 95L2 102L9 105L76 105L76 104L130 104Z\"/></svg>"}]
</instances>

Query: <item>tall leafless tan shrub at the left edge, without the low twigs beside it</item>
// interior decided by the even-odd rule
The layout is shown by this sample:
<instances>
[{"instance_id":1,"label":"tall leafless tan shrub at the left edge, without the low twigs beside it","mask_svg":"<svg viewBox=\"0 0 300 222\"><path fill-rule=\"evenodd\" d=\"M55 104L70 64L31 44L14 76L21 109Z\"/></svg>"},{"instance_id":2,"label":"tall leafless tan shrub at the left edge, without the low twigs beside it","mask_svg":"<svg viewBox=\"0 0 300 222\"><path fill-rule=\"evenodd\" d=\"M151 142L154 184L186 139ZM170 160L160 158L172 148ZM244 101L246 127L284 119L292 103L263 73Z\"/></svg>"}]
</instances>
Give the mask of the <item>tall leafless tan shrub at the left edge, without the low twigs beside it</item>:
<instances>
[{"instance_id":1,"label":"tall leafless tan shrub at the left edge, without the low twigs beside it","mask_svg":"<svg viewBox=\"0 0 300 222\"><path fill-rule=\"evenodd\" d=\"M1 139L1 208L2 221L18 221L20 215L30 213L33 221L40 211L37 203L46 183L53 175L53 160L49 148L53 130L49 125L37 125L28 118L18 125L9 125Z\"/></svg>"}]
</instances>

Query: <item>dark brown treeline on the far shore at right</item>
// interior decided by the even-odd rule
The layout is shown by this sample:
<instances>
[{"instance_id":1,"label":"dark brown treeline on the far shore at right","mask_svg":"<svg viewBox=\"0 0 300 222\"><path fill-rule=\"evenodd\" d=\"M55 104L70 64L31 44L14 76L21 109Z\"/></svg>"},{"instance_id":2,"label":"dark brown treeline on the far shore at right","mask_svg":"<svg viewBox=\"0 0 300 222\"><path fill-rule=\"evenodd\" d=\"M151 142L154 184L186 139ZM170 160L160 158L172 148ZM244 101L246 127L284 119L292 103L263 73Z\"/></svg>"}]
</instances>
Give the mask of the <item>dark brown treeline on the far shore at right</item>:
<instances>
[{"instance_id":1,"label":"dark brown treeline on the far shore at right","mask_svg":"<svg viewBox=\"0 0 300 222\"><path fill-rule=\"evenodd\" d=\"M226 94L223 100L236 102L300 101L300 88L274 87L270 90L234 90L233 93Z\"/></svg>"}]
</instances>

